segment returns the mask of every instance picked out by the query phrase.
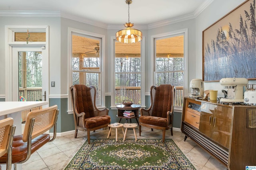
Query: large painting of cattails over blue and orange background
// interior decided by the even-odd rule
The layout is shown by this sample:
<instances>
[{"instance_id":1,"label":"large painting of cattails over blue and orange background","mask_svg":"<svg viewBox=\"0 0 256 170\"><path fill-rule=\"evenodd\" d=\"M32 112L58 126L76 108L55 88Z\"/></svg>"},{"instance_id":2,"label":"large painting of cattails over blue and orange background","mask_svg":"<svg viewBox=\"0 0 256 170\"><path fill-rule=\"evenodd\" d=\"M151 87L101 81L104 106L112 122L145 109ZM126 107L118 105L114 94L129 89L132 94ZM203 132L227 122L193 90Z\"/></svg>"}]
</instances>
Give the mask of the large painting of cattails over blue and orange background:
<instances>
[{"instance_id":1,"label":"large painting of cattails over blue and orange background","mask_svg":"<svg viewBox=\"0 0 256 170\"><path fill-rule=\"evenodd\" d=\"M229 77L256 79L255 0L247 0L203 31L204 81Z\"/></svg>"}]
</instances>

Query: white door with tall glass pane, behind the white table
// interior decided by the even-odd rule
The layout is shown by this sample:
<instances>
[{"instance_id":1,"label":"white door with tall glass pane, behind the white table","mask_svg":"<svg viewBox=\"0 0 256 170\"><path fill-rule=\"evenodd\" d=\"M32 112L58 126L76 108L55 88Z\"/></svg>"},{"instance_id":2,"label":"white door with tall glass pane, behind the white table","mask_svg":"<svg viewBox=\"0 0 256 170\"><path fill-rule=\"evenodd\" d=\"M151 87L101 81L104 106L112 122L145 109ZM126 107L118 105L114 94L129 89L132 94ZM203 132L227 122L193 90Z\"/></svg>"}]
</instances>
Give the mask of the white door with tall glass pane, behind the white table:
<instances>
[{"instance_id":1,"label":"white door with tall glass pane, behind the white table","mask_svg":"<svg viewBox=\"0 0 256 170\"><path fill-rule=\"evenodd\" d=\"M12 101L19 101L20 96L27 101L48 101L48 59L45 53L44 47L12 47ZM24 81L22 76L26 77Z\"/></svg>"}]
</instances>

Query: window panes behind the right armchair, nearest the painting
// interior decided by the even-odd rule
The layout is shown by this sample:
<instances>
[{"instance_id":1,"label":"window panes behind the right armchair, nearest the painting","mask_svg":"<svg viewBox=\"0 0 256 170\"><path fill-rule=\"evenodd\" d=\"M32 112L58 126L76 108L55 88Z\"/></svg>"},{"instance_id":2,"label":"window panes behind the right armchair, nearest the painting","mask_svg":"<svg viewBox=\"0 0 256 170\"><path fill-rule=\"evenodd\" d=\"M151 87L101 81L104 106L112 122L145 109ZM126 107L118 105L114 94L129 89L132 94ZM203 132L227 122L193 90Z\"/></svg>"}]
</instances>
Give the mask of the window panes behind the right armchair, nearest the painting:
<instances>
[{"instance_id":1,"label":"window panes behind the right armchair, nearest the painting","mask_svg":"<svg viewBox=\"0 0 256 170\"><path fill-rule=\"evenodd\" d=\"M184 84L184 35L154 39L154 84L176 86L175 106L182 106Z\"/></svg>"}]
</instances>

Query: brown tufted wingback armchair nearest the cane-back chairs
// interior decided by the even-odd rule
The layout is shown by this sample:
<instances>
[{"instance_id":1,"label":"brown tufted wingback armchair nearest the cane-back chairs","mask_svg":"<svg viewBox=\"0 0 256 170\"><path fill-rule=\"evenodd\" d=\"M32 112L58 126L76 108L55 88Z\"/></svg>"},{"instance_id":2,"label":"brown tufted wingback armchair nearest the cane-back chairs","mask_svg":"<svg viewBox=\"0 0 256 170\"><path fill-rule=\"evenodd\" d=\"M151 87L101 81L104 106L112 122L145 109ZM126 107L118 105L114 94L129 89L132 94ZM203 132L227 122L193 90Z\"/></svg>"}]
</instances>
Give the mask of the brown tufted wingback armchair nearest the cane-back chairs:
<instances>
[{"instance_id":1,"label":"brown tufted wingback armchair nearest the cane-back chairs","mask_svg":"<svg viewBox=\"0 0 256 170\"><path fill-rule=\"evenodd\" d=\"M73 115L75 121L75 138L77 131L87 131L90 144L90 131L108 127L110 116L108 108L99 110L96 107L96 88L84 84L75 84L70 87Z\"/></svg>"}]
</instances>

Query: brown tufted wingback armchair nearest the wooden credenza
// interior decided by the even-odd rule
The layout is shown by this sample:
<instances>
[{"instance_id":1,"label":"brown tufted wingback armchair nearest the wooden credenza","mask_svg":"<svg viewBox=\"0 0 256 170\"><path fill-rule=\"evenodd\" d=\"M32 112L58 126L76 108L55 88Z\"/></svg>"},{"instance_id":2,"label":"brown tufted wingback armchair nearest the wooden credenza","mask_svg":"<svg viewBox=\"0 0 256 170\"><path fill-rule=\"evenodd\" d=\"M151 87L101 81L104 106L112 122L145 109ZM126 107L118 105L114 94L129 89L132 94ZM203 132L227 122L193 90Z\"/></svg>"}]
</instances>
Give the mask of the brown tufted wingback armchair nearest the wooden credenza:
<instances>
[{"instance_id":1,"label":"brown tufted wingback armchair nearest the wooden credenza","mask_svg":"<svg viewBox=\"0 0 256 170\"><path fill-rule=\"evenodd\" d=\"M161 84L160 86L151 86L150 88L150 107L140 109L139 132L141 135L141 126L153 129L162 129L162 142L164 142L165 131L171 129L174 114L175 86L170 84Z\"/></svg>"}]
</instances>

